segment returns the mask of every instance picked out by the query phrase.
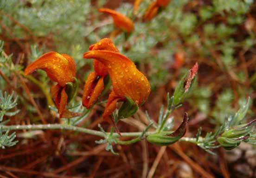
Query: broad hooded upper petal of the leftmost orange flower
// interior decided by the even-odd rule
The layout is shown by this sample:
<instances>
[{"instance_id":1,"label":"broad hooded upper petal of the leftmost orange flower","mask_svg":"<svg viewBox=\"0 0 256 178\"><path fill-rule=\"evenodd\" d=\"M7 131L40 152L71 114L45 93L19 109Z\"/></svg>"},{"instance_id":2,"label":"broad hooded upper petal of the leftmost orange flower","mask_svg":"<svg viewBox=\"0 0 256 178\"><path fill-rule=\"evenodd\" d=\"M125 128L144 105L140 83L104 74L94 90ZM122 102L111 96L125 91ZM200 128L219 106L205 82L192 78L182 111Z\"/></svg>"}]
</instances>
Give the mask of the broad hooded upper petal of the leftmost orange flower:
<instances>
[{"instance_id":1,"label":"broad hooded upper petal of the leftmost orange flower","mask_svg":"<svg viewBox=\"0 0 256 178\"><path fill-rule=\"evenodd\" d=\"M29 64L26 67L25 75L38 69L45 70L47 76L62 87L68 82L73 82L76 75L74 60L67 54L59 54L54 51L42 55Z\"/></svg>"}]
</instances>

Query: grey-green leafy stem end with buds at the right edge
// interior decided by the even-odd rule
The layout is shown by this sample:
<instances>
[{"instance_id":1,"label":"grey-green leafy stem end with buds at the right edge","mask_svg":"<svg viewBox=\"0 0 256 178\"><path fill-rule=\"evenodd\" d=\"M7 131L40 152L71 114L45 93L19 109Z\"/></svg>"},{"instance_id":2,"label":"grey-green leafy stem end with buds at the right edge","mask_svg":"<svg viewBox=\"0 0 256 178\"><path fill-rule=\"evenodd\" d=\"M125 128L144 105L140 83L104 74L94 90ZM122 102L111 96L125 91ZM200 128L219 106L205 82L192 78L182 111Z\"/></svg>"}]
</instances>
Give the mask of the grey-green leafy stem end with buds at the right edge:
<instances>
[{"instance_id":1,"label":"grey-green leafy stem end with buds at the right edge","mask_svg":"<svg viewBox=\"0 0 256 178\"><path fill-rule=\"evenodd\" d=\"M198 129L196 144L209 153L210 149L219 146L224 147L226 150L237 147L242 141L250 144L255 144L255 123L256 120L243 124L245 115L250 106L250 98L243 104L243 106L235 113L230 114L225 118L221 127L218 127L215 133L207 133L204 138L200 137L201 127ZM218 141L218 144L216 144Z\"/></svg>"}]
</instances>

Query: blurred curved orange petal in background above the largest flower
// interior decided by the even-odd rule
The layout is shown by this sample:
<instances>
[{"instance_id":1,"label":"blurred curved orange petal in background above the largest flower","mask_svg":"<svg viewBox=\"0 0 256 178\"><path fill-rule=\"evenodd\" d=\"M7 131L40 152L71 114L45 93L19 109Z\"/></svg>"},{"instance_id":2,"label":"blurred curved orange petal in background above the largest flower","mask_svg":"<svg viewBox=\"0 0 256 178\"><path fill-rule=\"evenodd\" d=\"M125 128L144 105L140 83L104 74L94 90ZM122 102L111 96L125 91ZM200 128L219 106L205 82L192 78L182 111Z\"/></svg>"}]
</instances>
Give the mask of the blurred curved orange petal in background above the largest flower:
<instances>
[{"instance_id":1,"label":"blurred curved orange petal in background above the largest flower","mask_svg":"<svg viewBox=\"0 0 256 178\"><path fill-rule=\"evenodd\" d=\"M134 23L131 19L123 15L122 13L118 13L109 8L100 8L99 12L107 13L112 16L114 23L119 28L122 28L124 31L130 33L134 31Z\"/></svg>"}]
</instances>

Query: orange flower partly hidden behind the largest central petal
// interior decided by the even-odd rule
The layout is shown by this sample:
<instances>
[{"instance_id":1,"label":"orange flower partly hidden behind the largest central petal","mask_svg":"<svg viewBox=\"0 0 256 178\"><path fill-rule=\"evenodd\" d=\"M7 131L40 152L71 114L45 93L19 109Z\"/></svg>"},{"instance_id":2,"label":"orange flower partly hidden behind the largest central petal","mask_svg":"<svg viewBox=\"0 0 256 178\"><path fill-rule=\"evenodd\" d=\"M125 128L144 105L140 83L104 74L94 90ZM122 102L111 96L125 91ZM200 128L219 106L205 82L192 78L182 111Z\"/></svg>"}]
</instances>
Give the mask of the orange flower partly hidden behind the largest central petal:
<instances>
[{"instance_id":1,"label":"orange flower partly hidden behind the largest central petal","mask_svg":"<svg viewBox=\"0 0 256 178\"><path fill-rule=\"evenodd\" d=\"M109 38L103 38L98 43L89 47L89 50L107 50L118 52L115 45ZM98 60L93 61L95 72L91 72L87 77L83 89L83 106L90 108L104 89L103 79L108 75L107 68Z\"/></svg>"}]
</instances>

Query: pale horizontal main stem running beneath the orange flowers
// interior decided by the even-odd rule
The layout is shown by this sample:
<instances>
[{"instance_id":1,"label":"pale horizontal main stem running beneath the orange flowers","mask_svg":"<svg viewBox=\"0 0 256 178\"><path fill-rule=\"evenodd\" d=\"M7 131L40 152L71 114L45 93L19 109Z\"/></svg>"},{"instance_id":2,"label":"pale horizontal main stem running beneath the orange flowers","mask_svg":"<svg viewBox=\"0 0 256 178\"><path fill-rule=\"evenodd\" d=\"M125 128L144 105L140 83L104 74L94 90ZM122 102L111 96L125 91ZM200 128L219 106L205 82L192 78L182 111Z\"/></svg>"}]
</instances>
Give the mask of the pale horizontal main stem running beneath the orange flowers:
<instances>
[{"instance_id":1,"label":"pale horizontal main stem running beneath the orange flowers","mask_svg":"<svg viewBox=\"0 0 256 178\"><path fill-rule=\"evenodd\" d=\"M55 130L55 129L61 129L61 130L73 130L76 132L82 132L85 134L91 134L91 135L96 135L99 137L105 137L105 134L100 131L88 129L88 128L82 128L82 127L76 127L76 126L71 126L71 125L64 125L64 124L38 124L38 125L13 125L13 126L1 126L3 130L23 130L23 129L30 129L30 130L39 130L39 129L45 129L45 130ZM145 133L145 136L149 134L153 134L155 132L147 132ZM110 133L107 133L110 134ZM121 133L122 137L140 137L142 132L123 132ZM113 133L114 137L120 137L119 134ZM135 140L135 139L134 139ZM137 141L141 140L136 139ZM179 139L180 141L186 141L186 142L191 142L191 143L196 143L196 138L187 138L183 137ZM120 141L122 143L122 141Z\"/></svg>"}]
</instances>

